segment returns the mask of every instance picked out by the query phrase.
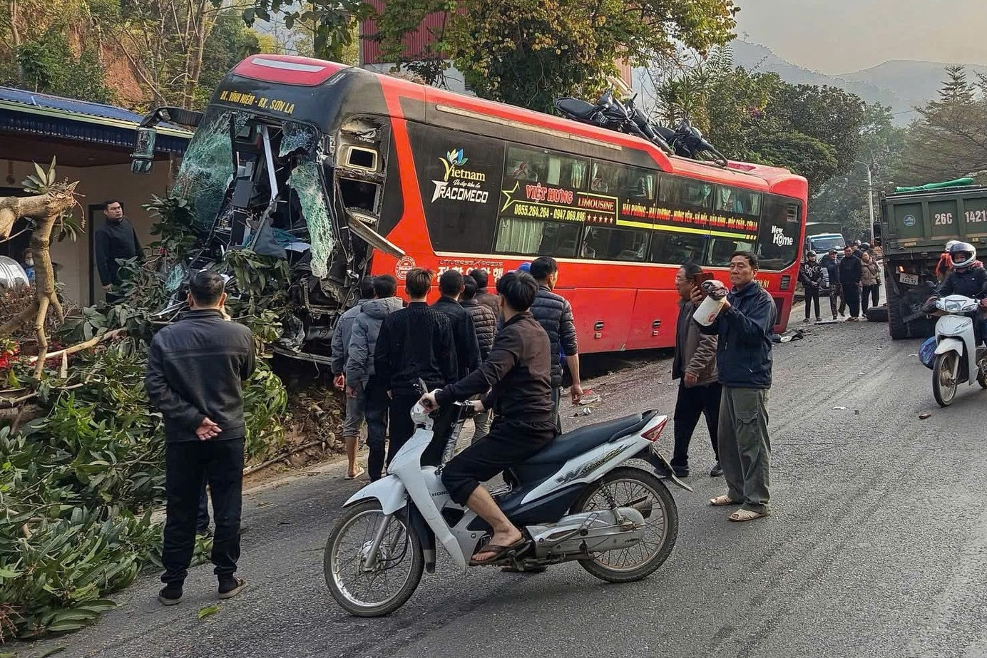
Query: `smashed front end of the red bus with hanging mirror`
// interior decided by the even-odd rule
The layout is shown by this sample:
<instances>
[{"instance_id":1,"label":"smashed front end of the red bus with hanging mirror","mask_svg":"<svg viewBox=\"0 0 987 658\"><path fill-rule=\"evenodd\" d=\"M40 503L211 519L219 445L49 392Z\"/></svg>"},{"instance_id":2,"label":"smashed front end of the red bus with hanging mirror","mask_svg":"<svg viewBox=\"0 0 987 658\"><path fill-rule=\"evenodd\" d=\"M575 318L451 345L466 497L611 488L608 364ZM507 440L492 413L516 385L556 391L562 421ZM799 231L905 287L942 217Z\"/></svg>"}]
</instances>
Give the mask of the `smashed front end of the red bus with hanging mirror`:
<instances>
[{"instance_id":1,"label":"smashed front end of the red bus with hanging mirror","mask_svg":"<svg viewBox=\"0 0 987 658\"><path fill-rule=\"evenodd\" d=\"M144 119L135 173L150 170L158 122L195 127L175 192L194 204L199 242L170 277L169 313L184 299L184 272L250 249L289 263L298 322L286 325L278 351L330 353L336 320L353 303L374 250L404 256L382 237L391 227L381 217L400 215L400 207L385 208L400 205L401 194L385 185L390 124L366 75L315 59L255 55L226 76L204 113L162 108Z\"/></svg>"}]
</instances>

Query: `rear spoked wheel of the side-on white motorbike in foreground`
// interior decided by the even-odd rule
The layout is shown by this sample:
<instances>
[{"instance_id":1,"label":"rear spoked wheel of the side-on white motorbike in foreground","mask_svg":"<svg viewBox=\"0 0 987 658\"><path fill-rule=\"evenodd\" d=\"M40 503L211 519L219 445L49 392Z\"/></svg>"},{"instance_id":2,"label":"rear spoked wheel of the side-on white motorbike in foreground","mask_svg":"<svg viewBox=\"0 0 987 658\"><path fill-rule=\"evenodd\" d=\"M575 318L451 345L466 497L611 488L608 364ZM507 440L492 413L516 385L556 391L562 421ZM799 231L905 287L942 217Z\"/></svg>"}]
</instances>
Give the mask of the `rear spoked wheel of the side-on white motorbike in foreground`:
<instances>
[{"instance_id":1,"label":"rear spoked wheel of the side-on white motorbike in foreground","mask_svg":"<svg viewBox=\"0 0 987 658\"><path fill-rule=\"evenodd\" d=\"M631 467L614 469L586 487L571 512L634 507L645 516L645 539L632 547L608 550L593 559L580 559L589 573L611 583L641 580L661 566L678 536L678 508L668 487L658 477Z\"/></svg>"}]
</instances>

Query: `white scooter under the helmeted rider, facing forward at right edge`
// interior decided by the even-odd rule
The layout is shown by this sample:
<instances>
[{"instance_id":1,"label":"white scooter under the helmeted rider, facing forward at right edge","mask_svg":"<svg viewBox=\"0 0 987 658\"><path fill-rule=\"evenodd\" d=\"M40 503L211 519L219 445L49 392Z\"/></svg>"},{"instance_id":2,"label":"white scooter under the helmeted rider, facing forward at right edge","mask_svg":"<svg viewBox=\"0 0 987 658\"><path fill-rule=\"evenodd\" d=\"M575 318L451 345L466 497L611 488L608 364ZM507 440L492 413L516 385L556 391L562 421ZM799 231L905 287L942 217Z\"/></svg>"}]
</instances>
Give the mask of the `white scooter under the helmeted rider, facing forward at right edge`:
<instances>
[{"instance_id":1,"label":"white scooter under the helmeted rider, facing forward at right edge","mask_svg":"<svg viewBox=\"0 0 987 658\"><path fill-rule=\"evenodd\" d=\"M936 361L932 369L932 393L940 406L949 406L956 388L974 380L987 389L987 347L977 346L974 320L970 318L979 302L963 295L949 295L936 300L940 316L936 322Z\"/></svg>"}]
</instances>

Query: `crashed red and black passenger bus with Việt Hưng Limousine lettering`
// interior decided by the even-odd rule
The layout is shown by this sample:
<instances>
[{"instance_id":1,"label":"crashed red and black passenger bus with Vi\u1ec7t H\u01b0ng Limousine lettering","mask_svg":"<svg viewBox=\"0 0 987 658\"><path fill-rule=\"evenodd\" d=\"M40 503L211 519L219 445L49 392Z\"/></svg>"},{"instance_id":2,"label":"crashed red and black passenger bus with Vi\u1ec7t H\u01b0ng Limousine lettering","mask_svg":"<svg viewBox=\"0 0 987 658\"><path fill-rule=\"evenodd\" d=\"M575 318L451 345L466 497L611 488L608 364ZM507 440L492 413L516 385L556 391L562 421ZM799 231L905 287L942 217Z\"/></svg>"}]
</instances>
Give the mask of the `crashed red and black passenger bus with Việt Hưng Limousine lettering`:
<instances>
[{"instance_id":1,"label":"crashed red and black passenger bus with Vi\u1ec7t H\u01b0ng Limousine lettering","mask_svg":"<svg viewBox=\"0 0 987 658\"><path fill-rule=\"evenodd\" d=\"M668 157L635 136L283 55L241 62L198 123L179 185L213 244L263 251L266 224L282 247L289 236L306 352L328 345L364 273L495 278L535 256L559 260L582 352L672 345L678 266L728 282L737 250L760 257L776 329L788 323L807 185L786 170Z\"/></svg>"}]
</instances>

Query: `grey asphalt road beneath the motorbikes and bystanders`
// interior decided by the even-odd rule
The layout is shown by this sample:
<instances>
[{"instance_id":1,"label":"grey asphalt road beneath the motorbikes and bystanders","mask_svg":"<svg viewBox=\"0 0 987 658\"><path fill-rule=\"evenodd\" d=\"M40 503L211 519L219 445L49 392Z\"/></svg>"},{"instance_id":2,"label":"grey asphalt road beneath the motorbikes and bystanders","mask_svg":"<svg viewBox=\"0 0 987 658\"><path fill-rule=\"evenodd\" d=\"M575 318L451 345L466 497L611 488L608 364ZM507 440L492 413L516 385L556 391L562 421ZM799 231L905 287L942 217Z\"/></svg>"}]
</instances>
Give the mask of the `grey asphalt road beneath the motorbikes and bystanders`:
<instances>
[{"instance_id":1,"label":"grey asphalt road beneath the motorbikes and bystanders","mask_svg":"<svg viewBox=\"0 0 987 658\"><path fill-rule=\"evenodd\" d=\"M59 646L100 658L987 656L987 393L964 385L938 408L918 343L846 323L776 345L774 513L731 524L728 510L706 504L723 487L706 475L713 456L701 427L696 492L673 491L678 543L645 581L608 585L576 564L462 575L440 557L396 614L348 617L323 581L322 550L358 484L332 467L246 497L250 588L212 617L197 617L215 603L202 565L179 606L159 606L148 576L97 625L14 648L36 658ZM670 414L669 370L665 359L591 382L602 404L567 425ZM670 445L670 426L661 440Z\"/></svg>"}]
</instances>

